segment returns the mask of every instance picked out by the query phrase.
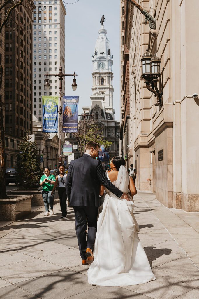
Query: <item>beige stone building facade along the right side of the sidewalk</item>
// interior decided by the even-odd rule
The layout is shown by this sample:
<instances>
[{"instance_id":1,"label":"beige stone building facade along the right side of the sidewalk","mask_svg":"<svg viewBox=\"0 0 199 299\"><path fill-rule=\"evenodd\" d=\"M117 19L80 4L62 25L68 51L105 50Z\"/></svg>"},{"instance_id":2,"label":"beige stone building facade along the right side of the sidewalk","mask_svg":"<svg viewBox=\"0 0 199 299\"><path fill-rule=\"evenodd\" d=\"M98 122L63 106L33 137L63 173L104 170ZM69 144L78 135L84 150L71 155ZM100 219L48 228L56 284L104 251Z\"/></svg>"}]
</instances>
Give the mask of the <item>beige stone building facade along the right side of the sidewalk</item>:
<instances>
[{"instance_id":1,"label":"beige stone building facade along the right side of the sidewalk","mask_svg":"<svg viewBox=\"0 0 199 299\"><path fill-rule=\"evenodd\" d=\"M156 29L121 0L121 153L137 169L137 188L155 192L168 208L199 211L199 3L137 2ZM146 52L161 60L160 105L142 79Z\"/></svg>"}]
</instances>

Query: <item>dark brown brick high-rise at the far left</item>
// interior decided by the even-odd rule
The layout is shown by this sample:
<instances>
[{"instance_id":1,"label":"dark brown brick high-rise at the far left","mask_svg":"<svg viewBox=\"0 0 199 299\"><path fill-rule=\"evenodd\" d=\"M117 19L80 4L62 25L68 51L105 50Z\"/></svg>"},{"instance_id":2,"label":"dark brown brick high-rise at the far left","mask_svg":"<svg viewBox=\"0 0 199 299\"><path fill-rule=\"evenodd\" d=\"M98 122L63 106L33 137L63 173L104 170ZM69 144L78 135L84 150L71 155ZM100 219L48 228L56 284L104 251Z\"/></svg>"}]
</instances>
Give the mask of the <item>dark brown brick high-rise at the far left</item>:
<instances>
[{"instance_id":1,"label":"dark brown brick high-rise at the far left","mask_svg":"<svg viewBox=\"0 0 199 299\"><path fill-rule=\"evenodd\" d=\"M4 27L5 162L15 166L17 146L32 131L32 10L33 1L12 11ZM4 62L2 61L4 59Z\"/></svg>"}]
</instances>

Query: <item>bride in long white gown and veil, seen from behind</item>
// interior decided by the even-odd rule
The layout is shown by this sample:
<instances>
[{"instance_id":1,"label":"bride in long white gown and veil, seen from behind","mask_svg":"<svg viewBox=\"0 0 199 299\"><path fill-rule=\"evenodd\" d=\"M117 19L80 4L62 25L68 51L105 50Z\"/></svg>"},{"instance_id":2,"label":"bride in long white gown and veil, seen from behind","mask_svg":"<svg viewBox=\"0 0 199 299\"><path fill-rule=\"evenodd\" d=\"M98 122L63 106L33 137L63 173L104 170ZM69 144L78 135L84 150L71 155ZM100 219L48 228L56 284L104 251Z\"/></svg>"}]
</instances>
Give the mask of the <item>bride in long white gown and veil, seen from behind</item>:
<instances>
[{"instance_id":1,"label":"bride in long white gown and veil, seen from behind","mask_svg":"<svg viewBox=\"0 0 199 299\"><path fill-rule=\"evenodd\" d=\"M108 179L121 191L137 193L133 179L124 167L125 160L112 158ZM105 190L105 194L104 194ZM141 245L133 215L134 202L120 199L100 187L101 206L97 222L94 261L88 269L88 282L95 286L129 286L155 280Z\"/></svg>"}]
</instances>

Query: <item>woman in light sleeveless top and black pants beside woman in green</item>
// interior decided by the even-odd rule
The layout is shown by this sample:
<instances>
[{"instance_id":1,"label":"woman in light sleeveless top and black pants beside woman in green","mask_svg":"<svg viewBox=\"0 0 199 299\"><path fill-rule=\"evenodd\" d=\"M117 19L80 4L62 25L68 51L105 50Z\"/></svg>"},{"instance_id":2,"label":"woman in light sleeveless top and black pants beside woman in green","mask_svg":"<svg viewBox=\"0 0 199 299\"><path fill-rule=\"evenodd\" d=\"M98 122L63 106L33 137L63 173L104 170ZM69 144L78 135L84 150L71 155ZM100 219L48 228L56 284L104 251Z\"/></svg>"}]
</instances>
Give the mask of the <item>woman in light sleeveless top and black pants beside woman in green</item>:
<instances>
[{"instance_id":1,"label":"woman in light sleeveless top and black pants beside woman in green","mask_svg":"<svg viewBox=\"0 0 199 299\"><path fill-rule=\"evenodd\" d=\"M60 201L60 208L61 208L61 218L67 218L67 195L66 195L66 177L67 174L64 173L64 165L59 166L59 172L60 174L56 176L56 181L53 187L53 190L51 192L51 195L54 196L55 188L58 185L58 196Z\"/></svg>"}]
</instances>

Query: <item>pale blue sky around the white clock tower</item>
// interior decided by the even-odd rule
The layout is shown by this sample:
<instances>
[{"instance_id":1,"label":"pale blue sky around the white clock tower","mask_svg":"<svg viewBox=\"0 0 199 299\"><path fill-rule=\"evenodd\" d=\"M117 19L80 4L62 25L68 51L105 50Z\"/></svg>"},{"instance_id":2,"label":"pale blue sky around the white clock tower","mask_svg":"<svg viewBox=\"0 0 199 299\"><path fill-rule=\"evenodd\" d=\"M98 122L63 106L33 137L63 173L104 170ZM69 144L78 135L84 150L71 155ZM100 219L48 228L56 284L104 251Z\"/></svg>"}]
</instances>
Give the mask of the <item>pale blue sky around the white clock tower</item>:
<instances>
[{"instance_id":1,"label":"pale blue sky around the white clock tower","mask_svg":"<svg viewBox=\"0 0 199 299\"><path fill-rule=\"evenodd\" d=\"M79 96L79 114L82 106L91 104L92 94L92 55L100 20L104 14L110 50L113 57L113 108L115 120L120 119L120 0L63 0L65 16L65 73L78 76L76 91L72 91L72 77L65 77L65 95Z\"/></svg>"}]
</instances>

